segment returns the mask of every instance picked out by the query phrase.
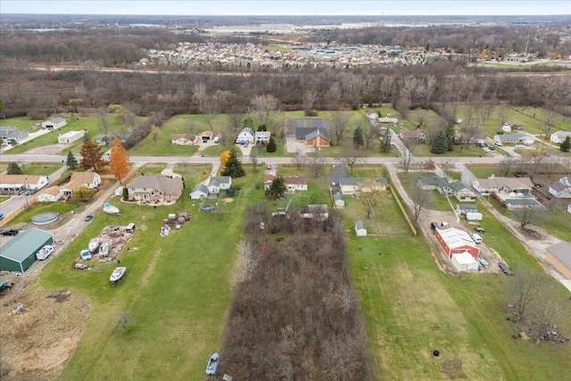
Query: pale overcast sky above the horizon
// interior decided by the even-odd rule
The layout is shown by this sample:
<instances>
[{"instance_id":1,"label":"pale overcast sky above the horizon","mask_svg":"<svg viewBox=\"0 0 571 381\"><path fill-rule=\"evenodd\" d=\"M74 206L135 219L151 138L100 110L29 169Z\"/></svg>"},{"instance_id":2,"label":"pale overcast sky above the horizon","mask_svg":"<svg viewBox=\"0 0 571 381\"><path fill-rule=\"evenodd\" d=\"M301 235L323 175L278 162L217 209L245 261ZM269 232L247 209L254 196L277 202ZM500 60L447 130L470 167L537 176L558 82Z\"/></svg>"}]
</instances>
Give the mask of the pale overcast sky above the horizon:
<instances>
[{"instance_id":1,"label":"pale overcast sky above the horizon","mask_svg":"<svg viewBox=\"0 0 571 381\"><path fill-rule=\"evenodd\" d=\"M571 1L525 0L1 0L0 13L167 15L554 15L571 14Z\"/></svg>"}]
</instances>

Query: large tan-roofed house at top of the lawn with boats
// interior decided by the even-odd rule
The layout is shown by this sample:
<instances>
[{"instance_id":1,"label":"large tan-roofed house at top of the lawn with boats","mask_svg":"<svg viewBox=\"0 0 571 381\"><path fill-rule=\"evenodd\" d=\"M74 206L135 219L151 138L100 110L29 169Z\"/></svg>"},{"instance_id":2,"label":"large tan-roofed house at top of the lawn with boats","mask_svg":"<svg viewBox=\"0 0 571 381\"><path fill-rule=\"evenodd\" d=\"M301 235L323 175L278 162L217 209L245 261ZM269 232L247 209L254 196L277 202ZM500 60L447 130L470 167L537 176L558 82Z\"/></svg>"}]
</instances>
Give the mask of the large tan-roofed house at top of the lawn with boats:
<instances>
[{"instance_id":1,"label":"large tan-roofed house at top of the lawn with boats","mask_svg":"<svg viewBox=\"0 0 571 381\"><path fill-rule=\"evenodd\" d=\"M146 173L127 185L128 199L150 203L174 202L182 195L182 179Z\"/></svg>"}]
</instances>

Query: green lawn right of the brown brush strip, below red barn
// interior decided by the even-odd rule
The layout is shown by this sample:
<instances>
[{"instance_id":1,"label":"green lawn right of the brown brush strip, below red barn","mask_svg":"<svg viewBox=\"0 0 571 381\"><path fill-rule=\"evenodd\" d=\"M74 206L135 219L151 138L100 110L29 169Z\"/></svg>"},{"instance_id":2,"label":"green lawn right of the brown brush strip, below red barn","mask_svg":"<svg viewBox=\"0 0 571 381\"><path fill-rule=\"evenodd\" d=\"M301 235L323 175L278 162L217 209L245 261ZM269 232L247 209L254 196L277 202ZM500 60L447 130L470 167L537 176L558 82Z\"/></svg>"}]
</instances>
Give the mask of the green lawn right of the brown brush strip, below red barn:
<instances>
[{"instance_id":1,"label":"green lawn right of the brown brush strip, below red barn","mask_svg":"<svg viewBox=\"0 0 571 381\"><path fill-rule=\"evenodd\" d=\"M390 225L398 214L379 214ZM526 263L542 271L521 244L486 214L486 233L512 268ZM491 230L488 230L491 229ZM503 283L488 274L444 274L422 236L356 237L349 232L352 276L365 314L376 379L448 379L438 368L458 358L468 379L569 379L569 344L513 340L505 319ZM382 255L379 255L382 254ZM555 282L555 280L553 280ZM559 286L566 332L571 329L568 293ZM566 319L567 317L567 319ZM435 360L434 350L442 360Z\"/></svg>"}]
</instances>

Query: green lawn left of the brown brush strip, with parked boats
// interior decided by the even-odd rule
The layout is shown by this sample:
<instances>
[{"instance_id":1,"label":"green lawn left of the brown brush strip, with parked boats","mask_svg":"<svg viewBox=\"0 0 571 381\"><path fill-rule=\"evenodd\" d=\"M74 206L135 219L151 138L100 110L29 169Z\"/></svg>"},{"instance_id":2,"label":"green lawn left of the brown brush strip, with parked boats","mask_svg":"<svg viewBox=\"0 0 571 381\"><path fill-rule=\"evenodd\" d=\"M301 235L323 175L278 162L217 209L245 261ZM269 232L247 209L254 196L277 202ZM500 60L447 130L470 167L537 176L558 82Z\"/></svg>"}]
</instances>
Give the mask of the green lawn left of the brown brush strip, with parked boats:
<instances>
[{"instance_id":1,"label":"green lawn left of the brown brush strip, with parked boats","mask_svg":"<svg viewBox=\"0 0 571 381\"><path fill-rule=\"evenodd\" d=\"M183 168L184 169L184 168ZM188 178L203 169L186 170ZM210 172L210 170L209 170ZM42 273L44 289L67 288L94 303L87 328L60 379L202 380L205 361L219 350L231 298L235 246L242 236L242 215L249 203L263 200L263 190L252 184L257 171L236 179L242 186L236 213L201 213L185 195L172 207L114 204L121 216L99 213L64 253ZM194 177L193 177L194 178ZM238 197L236 197L235 203ZM231 205L231 204L230 204ZM233 210L227 208L227 211ZM161 237L162 219L170 212L188 211L192 219L170 236ZM104 226L137 224L128 247L120 253L126 278L112 288L113 265L91 263L92 271L74 271L79 251ZM217 239L219 232L225 239ZM114 329L122 311L130 311L135 326L128 332ZM141 366L141 364L145 366Z\"/></svg>"}]
</instances>

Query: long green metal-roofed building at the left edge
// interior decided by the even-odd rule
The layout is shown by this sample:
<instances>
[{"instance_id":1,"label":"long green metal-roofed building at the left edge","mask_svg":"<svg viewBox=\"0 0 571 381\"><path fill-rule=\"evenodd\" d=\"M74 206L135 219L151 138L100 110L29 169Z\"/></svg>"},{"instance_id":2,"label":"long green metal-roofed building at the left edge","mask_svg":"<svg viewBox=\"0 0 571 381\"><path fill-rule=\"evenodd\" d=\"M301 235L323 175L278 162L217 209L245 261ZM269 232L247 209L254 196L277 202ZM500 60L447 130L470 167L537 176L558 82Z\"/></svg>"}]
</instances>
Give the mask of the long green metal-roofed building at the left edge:
<instances>
[{"instance_id":1,"label":"long green metal-roofed building at the left edge","mask_svg":"<svg viewBox=\"0 0 571 381\"><path fill-rule=\"evenodd\" d=\"M42 229L30 228L14 236L2 246L0 271L26 271L36 261L36 253L46 244L54 244L54 236Z\"/></svg>"}]
</instances>

